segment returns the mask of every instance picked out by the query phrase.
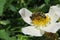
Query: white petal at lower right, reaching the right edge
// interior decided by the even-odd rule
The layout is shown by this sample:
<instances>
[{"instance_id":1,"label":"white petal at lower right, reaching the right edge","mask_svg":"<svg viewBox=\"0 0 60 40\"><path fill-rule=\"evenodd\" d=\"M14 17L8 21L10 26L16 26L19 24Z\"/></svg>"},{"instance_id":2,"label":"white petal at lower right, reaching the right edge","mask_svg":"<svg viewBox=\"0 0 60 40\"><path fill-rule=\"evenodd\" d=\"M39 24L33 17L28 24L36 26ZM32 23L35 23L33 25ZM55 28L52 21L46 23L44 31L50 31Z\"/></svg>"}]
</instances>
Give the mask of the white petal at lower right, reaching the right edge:
<instances>
[{"instance_id":1,"label":"white petal at lower right, reaching the right edge","mask_svg":"<svg viewBox=\"0 0 60 40\"><path fill-rule=\"evenodd\" d=\"M52 33L56 33L59 29L60 29L60 22L50 24L47 27L41 28L41 30L44 30L44 31L47 31L47 32L52 32Z\"/></svg>"}]
</instances>

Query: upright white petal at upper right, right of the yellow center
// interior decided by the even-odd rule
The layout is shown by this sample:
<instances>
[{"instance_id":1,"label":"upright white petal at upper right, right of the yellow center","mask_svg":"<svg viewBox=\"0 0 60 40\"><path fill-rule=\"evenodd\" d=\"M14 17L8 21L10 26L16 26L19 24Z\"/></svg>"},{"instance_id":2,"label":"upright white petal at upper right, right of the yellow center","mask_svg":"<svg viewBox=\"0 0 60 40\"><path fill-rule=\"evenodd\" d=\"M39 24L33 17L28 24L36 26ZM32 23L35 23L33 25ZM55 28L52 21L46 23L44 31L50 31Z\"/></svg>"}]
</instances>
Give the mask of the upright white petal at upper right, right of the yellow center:
<instances>
[{"instance_id":1,"label":"upright white petal at upper right, right of the yellow center","mask_svg":"<svg viewBox=\"0 0 60 40\"><path fill-rule=\"evenodd\" d=\"M59 18L58 14L60 12L60 8L58 5L51 6L48 15L51 17L51 22L56 22Z\"/></svg>"}]
</instances>

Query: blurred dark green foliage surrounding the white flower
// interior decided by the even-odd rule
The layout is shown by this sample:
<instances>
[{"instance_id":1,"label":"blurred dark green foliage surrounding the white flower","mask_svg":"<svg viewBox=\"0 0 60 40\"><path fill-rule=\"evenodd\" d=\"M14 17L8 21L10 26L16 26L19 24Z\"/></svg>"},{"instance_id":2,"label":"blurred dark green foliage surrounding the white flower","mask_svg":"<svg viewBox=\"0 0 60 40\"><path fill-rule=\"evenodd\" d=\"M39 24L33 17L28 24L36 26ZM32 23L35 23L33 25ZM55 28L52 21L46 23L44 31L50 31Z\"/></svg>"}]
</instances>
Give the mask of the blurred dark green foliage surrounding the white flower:
<instances>
[{"instance_id":1,"label":"blurred dark green foliage surrounding the white flower","mask_svg":"<svg viewBox=\"0 0 60 40\"><path fill-rule=\"evenodd\" d=\"M19 14L23 7L32 12L47 13L50 6L60 4L60 0L0 0L0 40L60 40L60 30L56 34L31 37L21 32L28 26Z\"/></svg>"}]
</instances>

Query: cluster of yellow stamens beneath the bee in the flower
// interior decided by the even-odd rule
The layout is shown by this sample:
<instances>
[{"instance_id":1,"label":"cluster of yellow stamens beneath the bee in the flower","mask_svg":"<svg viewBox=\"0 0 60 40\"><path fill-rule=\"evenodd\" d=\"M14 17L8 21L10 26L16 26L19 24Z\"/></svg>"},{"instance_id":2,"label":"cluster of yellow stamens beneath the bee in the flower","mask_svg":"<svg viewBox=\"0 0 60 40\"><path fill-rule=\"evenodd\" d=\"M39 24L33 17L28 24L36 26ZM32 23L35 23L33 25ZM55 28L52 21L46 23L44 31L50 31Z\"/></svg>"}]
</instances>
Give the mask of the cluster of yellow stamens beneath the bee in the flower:
<instances>
[{"instance_id":1,"label":"cluster of yellow stamens beneath the bee in the flower","mask_svg":"<svg viewBox=\"0 0 60 40\"><path fill-rule=\"evenodd\" d=\"M46 16L46 18L38 16L34 20L32 20L32 23L37 26L46 26L50 22L50 20L51 19L49 16Z\"/></svg>"}]
</instances>

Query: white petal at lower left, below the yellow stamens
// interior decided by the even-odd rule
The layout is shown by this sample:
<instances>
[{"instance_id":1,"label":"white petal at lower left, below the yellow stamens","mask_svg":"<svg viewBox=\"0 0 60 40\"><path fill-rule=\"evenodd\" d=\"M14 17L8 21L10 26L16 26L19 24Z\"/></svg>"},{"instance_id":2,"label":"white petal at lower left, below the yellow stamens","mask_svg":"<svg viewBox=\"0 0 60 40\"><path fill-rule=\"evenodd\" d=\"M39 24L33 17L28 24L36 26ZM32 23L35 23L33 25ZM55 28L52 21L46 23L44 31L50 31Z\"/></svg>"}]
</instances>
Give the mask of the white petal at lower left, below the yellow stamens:
<instances>
[{"instance_id":1,"label":"white petal at lower left, below the yellow stamens","mask_svg":"<svg viewBox=\"0 0 60 40\"><path fill-rule=\"evenodd\" d=\"M30 36L42 36L44 34L43 31L41 33L41 31L36 29L34 26L28 26L28 27L22 28L22 32Z\"/></svg>"}]
</instances>

